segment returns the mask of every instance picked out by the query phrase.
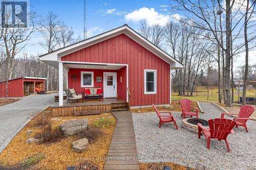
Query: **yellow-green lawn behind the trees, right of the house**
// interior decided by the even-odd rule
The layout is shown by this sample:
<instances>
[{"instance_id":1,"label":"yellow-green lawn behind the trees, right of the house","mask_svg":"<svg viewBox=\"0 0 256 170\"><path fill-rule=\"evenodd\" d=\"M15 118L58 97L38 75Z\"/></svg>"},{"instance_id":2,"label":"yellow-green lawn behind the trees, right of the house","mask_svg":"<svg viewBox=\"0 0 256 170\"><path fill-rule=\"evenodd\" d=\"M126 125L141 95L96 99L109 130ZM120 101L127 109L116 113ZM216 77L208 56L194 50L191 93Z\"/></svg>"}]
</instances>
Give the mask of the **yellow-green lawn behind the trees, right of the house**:
<instances>
[{"instance_id":1,"label":"yellow-green lawn behind the trees, right of the house","mask_svg":"<svg viewBox=\"0 0 256 170\"><path fill-rule=\"evenodd\" d=\"M240 91L240 96L242 96L242 91ZM256 90L247 90L246 96L255 97ZM180 96L178 92L172 91L172 100L180 100L187 98L191 101L207 101L207 87L198 86L198 92L193 92L193 96ZM218 102L218 87L210 88L208 101ZM223 100L222 100L223 102ZM234 89L234 103L238 102L238 91Z\"/></svg>"}]
</instances>

